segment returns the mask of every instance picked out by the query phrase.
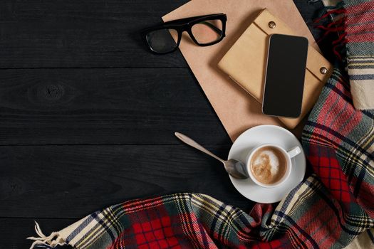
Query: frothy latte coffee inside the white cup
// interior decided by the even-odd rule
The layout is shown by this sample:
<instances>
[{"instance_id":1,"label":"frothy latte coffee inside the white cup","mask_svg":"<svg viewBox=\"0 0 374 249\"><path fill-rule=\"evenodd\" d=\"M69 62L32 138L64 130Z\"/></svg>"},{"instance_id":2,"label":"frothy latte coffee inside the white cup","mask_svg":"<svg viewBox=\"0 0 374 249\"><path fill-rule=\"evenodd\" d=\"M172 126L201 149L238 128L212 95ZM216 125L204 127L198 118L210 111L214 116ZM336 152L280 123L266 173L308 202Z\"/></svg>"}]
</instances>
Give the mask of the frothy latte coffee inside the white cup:
<instances>
[{"instance_id":1,"label":"frothy latte coffee inside the white cup","mask_svg":"<svg viewBox=\"0 0 374 249\"><path fill-rule=\"evenodd\" d=\"M286 174L287 161L279 149L266 146L252 155L249 168L261 184L276 184Z\"/></svg>"}]
</instances>

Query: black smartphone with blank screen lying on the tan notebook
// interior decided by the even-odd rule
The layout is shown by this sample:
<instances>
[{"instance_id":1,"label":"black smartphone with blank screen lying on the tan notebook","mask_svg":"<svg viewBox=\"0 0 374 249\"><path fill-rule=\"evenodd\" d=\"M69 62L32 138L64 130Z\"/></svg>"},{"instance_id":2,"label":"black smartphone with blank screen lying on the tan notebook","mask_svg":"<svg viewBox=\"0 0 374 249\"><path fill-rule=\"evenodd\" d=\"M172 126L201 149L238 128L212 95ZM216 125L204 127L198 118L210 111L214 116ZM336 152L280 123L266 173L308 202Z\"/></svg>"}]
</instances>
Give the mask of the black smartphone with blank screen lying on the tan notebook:
<instances>
[{"instance_id":1,"label":"black smartphone with blank screen lying on the tan notebook","mask_svg":"<svg viewBox=\"0 0 374 249\"><path fill-rule=\"evenodd\" d=\"M269 38L262 112L298 117L301 114L308 39L273 34Z\"/></svg>"}]
</instances>

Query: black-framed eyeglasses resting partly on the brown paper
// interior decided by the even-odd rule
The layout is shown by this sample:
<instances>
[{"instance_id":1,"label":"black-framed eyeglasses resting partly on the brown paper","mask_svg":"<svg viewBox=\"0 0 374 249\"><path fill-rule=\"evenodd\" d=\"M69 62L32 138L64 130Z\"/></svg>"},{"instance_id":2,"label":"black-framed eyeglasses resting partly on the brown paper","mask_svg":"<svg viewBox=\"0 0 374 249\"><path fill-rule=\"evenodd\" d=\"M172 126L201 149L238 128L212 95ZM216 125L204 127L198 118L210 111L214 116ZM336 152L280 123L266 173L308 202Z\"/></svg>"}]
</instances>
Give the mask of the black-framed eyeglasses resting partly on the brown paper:
<instances>
[{"instance_id":1,"label":"black-framed eyeglasses resting partly on the brown paper","mask_svg":"<svg viewBox=\"0 0 374 249\"><path fill-rule=\"evenodd\" d=\"M142 38L152 53L165 54L177 50L182 33L187 32L198 46L211 46L225 36L227 16L211 14L168 21L142 30Z\"/></svg>"}]
</instances>

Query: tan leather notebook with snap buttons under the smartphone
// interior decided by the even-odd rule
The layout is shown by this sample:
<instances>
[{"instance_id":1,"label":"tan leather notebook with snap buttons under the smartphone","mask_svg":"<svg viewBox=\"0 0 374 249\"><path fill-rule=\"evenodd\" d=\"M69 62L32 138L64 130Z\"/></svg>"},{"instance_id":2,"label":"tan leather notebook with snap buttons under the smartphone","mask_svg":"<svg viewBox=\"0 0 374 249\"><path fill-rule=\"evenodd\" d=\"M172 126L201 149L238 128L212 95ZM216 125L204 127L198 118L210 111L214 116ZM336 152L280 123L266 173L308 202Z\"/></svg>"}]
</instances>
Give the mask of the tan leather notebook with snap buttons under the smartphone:
<instances>
[{"instance_id":1,"label":"tan leather notebook with snap buttons under the smartphone","mask_svg":"<svg viewBox=\"0 0 374 249\"><path fill-rule=\"evenodd\" d=\"M221 70L259 102L263 97L268 39L273 33L296 36L286 23L264 9L218 63ZM301 115L297 118L279 117L286 127L294 129L311 110L332 69L328 60L309 46ZM292 68L289 68L289 73L292 73Z\"/></svg>"}]
</instances>

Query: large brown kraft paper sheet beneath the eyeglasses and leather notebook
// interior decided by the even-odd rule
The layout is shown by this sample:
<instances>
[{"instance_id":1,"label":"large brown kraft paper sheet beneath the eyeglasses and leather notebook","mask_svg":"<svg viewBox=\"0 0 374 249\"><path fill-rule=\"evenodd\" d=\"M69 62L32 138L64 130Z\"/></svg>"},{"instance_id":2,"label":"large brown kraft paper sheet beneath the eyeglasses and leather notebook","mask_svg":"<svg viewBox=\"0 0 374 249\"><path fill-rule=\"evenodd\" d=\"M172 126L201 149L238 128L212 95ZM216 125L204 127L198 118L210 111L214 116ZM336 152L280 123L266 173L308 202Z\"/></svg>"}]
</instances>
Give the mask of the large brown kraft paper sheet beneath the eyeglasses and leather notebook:
<instances>
[{"instance_id":1,"label":"large brown kraft paper sheet beneath the eyeglasses and leather notebook","mask_svg":"<svg viewBox=\"0 0 374 249\"><path fill-rule=\"evenodd\" d=\"M189 42L188 36L185 36L180 44L180 51L233 141L241 132L259 124L284 127L278 118L263 115L261 104L217 66L229 48L265 8L274 16L283 17L284 23L296 31L298 36L306 36L309 44L319 51L292 0L192 0L162 17L164 21L171 21L204 14L227 14L227 36L223 41L202 48ZM301 134L301 129L302 125L298 125L294 132Z\"/></svg>"}]
</instances>

